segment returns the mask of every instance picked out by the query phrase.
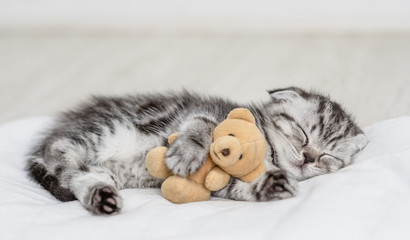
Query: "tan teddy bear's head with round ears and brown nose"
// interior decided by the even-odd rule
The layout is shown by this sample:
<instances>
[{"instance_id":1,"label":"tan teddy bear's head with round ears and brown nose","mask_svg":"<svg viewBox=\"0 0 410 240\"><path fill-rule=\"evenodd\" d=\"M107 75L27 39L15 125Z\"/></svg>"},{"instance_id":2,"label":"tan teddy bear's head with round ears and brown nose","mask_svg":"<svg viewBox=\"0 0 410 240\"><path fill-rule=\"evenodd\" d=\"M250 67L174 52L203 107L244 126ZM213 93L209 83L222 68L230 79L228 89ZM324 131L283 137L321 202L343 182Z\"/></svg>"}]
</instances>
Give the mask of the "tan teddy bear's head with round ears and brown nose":
<instances>
[{"instance_id":1,"label":"tan teddy bear's head with round ears and brown nose","mask_svg":"<svg viewBox=\"0 0 410 240\"><path fill-rule=\"evenodd\" d=\"M265 169L265 138L248 109L234 109L215 128L210 154L220 168L242 180L261 165Z\"/></svg>"}]
</instances>

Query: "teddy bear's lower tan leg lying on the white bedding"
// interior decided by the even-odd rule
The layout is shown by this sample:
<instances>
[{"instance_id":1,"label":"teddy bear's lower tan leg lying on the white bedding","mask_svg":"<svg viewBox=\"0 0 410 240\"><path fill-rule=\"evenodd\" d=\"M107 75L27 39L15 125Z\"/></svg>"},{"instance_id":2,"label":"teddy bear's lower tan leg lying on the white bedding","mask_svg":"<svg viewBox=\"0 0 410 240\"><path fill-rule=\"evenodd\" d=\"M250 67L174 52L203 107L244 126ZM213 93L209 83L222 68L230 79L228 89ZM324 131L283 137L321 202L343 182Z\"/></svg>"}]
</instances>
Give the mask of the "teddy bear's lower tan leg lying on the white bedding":
<instances>
[{"instance_id":1,"label":"teddy bear's lower tan leg lying on the white bedding","mask_svg":"<svg viewBox=\"0 0 410 240\"><path fill-rule=\"evenodd\" d=\"M211 192L202 185L179 176L168 177L161 186L162 195L173 203L206 201Z\"/></svg>"}]
</instances>

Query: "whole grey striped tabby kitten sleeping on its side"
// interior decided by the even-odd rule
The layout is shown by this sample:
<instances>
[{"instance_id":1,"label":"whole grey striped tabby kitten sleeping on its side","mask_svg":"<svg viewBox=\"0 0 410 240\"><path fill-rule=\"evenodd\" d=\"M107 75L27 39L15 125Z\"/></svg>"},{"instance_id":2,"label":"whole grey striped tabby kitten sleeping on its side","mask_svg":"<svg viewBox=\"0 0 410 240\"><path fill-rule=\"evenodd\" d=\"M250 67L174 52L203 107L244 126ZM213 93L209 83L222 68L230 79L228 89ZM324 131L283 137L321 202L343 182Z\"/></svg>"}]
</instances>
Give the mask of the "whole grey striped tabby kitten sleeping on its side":
<instances>
[{"instance_id":1,"label":"whole grey striped tabby kitten sleeping on its side","mask_svg":"<svg viewBox=\"0 0 410 240\"><path fill-rule=\"evenodd\" d=\"M62 114L32 150L28 171L61 201L78 199L94 214L120 211L124 188L160 187L144 160L153 147L179 137L166 163L178 175L198 170L212 130L236 107L254 114L267 140L267 172L252 183L232 178L214 196L246 201L289 198L297 180L330 173L352 162L367 140L329 98L299 88L270 91L271 100L242 106L188 92L94 97Z\"/></svg>"}]
</instances>

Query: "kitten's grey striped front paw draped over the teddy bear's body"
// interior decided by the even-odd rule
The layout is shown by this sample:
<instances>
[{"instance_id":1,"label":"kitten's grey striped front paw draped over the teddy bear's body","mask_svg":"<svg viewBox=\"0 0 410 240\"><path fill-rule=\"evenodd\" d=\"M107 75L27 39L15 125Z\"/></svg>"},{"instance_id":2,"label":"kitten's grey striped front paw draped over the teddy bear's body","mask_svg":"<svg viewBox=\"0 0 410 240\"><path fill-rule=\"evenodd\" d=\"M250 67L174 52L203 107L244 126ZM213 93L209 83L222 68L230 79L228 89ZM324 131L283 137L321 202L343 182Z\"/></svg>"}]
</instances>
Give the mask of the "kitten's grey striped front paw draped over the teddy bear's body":
<instances>
[{"instance_id":1,"label":"kitten's grey striped front paw draped over the teddy bear's body","mask_svg":"<svg viewBox=\"0 0 410 240\"><path fill-rule=\"evenodd\" d=\"M181 134L168 149L165 162L174 174L186 177L201 168L208 156L208 145L201 138Z\"/></svg>"}]
</instances>

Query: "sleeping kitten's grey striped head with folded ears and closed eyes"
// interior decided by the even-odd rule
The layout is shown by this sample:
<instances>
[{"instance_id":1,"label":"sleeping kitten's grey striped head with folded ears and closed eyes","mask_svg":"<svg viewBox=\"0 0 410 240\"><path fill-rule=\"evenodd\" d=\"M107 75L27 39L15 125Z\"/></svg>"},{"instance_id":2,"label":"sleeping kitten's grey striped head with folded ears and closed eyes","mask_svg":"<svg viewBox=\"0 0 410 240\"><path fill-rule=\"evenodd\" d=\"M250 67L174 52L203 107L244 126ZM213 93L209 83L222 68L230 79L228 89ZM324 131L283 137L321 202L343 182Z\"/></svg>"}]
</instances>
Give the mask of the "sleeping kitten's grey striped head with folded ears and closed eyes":
<instances>
[{"instance_id":1,"label":"sleeping kitten's grey striped head with folded ears and closed eyes","mask_svg":"<svg viewBox=\"0 0 410 240\"><path fill-rule=\"evenodd\" d=\"M328 97L295 87L269 94L275 164L298 180L334 172L366 146L362 130Z\"/></svg>"}]
</instances>

